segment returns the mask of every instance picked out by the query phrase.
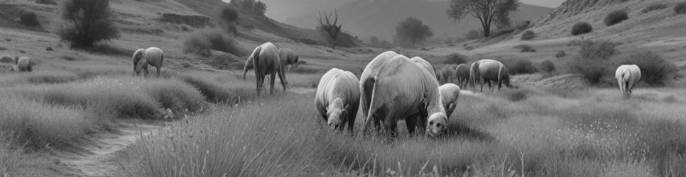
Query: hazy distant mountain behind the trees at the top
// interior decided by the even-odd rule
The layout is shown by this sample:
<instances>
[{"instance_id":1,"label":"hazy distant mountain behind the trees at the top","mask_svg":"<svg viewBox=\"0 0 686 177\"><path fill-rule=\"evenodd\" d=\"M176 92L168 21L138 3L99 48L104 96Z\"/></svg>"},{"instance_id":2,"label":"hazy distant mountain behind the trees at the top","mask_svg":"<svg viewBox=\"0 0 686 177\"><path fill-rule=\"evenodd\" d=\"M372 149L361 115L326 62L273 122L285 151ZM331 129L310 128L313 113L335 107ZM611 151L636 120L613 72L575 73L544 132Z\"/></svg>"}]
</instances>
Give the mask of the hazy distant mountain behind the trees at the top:
<instances>
[{"instance_id":1,"label":"hazy distant mountain behind the trees at the top","mask_svg":"<svg viewBox=\"0 0 686 177\"><path fill-rule=\"evenodd\" d=\"M438 0L354 0L336 9L343 30L359 36L360 39L377 36L380 39L391 40L396 33L396 25L410 16L429 25L436 37L457 37L469 30L480 29L481 25L476 18L469 17L453 23L445 13L448 6L447 1ZM331 8L310 8L301 15L286 18L283 22L302 28L315 28L318 25L318 11L322 10L332 11ZM518 20L535 21L551 10L552 8L521 4L519 11L513 13L513 17Z\"/></svg>"}]
</instances>

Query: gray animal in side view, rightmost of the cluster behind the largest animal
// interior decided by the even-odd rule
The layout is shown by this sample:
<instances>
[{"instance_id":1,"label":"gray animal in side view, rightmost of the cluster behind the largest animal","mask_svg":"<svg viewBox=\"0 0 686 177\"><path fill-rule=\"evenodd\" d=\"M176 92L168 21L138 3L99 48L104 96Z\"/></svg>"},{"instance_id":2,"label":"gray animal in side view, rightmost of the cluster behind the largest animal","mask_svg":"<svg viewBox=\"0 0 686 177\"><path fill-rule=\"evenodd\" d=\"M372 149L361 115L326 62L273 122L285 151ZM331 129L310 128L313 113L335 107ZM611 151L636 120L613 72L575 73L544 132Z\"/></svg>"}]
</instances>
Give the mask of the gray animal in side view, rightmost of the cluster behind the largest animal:
<instances>
[{"instance_id":1,"label":"gray animal in side view, rightmost of the cluster behind the largest animal","mask_svg":"<svg viewBox=\"0 0 686 177\"><path fill-rule=\"evenodd\" d=\"M484 82L489 84L489 90L493 91L494 84L498 84L498 90L503 84L507 87L516 87L510 84L510 74L505 65L493 59L481 59L472 64L469 72L469 82L477 88L475 83L479 81L481 91L484 91ZM495 82L495 83L494 83Z\"/></svg>"}]
</instances>

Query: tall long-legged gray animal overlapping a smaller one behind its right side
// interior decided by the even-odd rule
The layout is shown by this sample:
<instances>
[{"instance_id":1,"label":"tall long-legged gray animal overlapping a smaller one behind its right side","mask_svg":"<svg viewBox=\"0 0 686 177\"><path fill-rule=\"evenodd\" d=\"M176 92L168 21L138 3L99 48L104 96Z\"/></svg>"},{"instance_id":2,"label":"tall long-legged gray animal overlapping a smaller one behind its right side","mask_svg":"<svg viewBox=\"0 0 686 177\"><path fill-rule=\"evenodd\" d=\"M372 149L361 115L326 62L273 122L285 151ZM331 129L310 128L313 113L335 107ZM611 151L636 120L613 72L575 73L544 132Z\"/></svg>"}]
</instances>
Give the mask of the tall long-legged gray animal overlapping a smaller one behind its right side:
<instances>
[{"instance_id":1,"label":"tall long-legged gray animal overlapping a smaller one behind its right side","mask_svg":"<svg viewBox=\"0 0 686 177\"><path fill-rule=\"evenodd\" d=\"M255 80L257 81L257 96L260 96L262 87L264 86L264 77L270 75L269 93L274 93L274 81L276 81L276 75L281 80L281 86L283 90L286 89L285 76L283 75L283 69L281 69L281 59L278 56L278 49L276 45L271 42L266 42L253 50L252 54L246 60L245 67L243 69L243 79L245 80L246 73L248 69L255 69Z\"/></svg>"}]
</instances>

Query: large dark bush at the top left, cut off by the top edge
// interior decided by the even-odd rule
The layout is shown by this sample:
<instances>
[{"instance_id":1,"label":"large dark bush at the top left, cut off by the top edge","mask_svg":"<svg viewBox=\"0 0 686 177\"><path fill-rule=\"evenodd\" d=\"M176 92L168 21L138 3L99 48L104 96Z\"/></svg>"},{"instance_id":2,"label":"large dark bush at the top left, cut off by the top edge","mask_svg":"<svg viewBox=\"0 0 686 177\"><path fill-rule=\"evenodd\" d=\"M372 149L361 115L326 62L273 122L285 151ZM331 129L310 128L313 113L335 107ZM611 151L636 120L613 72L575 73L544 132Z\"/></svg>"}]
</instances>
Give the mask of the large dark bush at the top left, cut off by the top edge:
<instances>
[{"instance_id":1,"label":"large dark bush at the top left, cut off by the top edge","mask_svg":"<svg viewBox=\"0 0 686 177\"><path fill-rule=\"evenodd\" d=\"M71 47L89 47L95 42L119 38L109 0L65 0L60 9L58 35Z\"/></svg>"}]
</instances>

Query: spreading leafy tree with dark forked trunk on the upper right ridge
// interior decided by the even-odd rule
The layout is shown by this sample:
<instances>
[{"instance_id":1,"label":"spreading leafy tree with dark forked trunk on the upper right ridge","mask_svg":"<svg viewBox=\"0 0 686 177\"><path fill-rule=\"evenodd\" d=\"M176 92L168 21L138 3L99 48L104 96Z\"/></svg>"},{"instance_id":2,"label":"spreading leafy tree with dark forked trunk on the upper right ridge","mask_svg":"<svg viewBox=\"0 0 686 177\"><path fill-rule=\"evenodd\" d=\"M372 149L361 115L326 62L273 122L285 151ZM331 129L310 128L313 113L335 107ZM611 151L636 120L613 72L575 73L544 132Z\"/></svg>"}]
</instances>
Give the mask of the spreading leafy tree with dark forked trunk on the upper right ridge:
<instances>
[{"instance_id":1,"label":"spreading leafy tree with dark forked trunk on the upper right ridge","mask_svg":"<svg viewBox=\"0 0 686 177\"><path fill-rule=\"evenodd\" d=\"M518 0L450 0L450 7L446 13L454 21L461 21L467 15L479 19L484 37L489 38L491 25L509 25L510 13L517 8Z\"/></svg>"}]
</instances>

